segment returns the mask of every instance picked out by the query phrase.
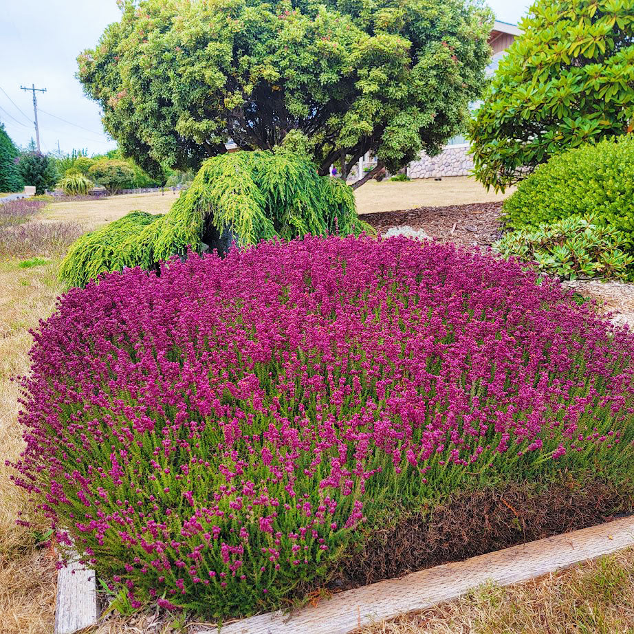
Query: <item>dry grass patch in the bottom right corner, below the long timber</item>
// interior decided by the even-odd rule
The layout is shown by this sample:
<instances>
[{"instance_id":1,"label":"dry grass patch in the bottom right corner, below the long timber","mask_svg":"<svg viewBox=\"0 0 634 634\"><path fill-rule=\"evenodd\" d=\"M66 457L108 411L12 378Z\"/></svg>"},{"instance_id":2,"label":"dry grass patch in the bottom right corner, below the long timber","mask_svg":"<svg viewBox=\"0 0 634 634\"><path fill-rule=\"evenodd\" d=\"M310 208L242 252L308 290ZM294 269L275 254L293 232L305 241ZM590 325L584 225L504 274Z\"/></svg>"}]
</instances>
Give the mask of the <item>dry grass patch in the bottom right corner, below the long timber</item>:
<instances>
[{"instance_id":1,"label":"dry grass patch in the bottom right corner, below the long timber","mask_svg":"<svg viewBox=\"0 0 634 634\"><path fill-rule=\"evenodd\" d=\"M524 584L494 584L357 634L634 633L634 549Z\"/></svg>"}]
</instances>

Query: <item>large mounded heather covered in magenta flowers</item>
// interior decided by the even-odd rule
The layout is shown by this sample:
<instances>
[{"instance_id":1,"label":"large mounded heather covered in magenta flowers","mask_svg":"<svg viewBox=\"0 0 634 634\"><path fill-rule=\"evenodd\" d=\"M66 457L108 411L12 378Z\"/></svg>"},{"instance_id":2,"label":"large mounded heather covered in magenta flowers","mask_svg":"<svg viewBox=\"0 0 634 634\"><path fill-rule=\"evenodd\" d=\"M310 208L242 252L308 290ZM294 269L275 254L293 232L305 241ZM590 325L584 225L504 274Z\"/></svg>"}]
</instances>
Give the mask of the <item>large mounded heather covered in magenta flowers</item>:
<instances>
[{"instance_id":1,"label":"large mounded heather covered in magenta flowers","mask_svg":"<svg viewBox=\"0 0 634 634\"><path fill-rule=\"evenodd\" d=\"M325 580L386 507L634 470L634 337L452 245L108 274L35 340L16 481L135 605L246 615Z\"/></svg>"}]
</instances>

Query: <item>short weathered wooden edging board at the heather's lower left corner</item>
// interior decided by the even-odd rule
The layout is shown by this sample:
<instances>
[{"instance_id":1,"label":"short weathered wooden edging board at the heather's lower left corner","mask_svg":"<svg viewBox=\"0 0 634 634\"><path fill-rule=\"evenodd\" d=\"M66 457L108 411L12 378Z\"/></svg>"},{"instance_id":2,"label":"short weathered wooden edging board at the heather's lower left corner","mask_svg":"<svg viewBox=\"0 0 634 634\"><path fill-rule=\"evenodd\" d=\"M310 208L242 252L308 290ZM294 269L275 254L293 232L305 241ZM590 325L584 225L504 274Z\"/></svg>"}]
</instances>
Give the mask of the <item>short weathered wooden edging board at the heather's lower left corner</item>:
<instances>
[{"instance_id":1,"label":"short weathered wooden edging board at the heather's lower left corner","mask_svg":"<svg viewBox=\"0 0 634 634\"><path fill-rule=\"evenodd\" d=\"M98 617L95 571L74 557L57 573L55 634L74 634L94 625Z\"/></svg>"}]
</instances>

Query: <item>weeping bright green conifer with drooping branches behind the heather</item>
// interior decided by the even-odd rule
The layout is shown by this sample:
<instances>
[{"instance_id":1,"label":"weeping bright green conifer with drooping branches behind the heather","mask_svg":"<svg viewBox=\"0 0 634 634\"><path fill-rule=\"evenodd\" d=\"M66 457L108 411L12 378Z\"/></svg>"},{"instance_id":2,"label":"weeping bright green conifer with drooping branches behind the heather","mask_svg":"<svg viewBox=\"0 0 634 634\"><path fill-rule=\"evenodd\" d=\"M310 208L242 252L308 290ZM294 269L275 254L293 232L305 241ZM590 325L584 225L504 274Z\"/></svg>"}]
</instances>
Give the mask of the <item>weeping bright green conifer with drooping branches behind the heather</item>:
<instances>
[{"instance_id":1,"label":"weeping bright green conifer with drooping branches behind the heather","mask_svg":"<svg viewBox=\"0 0 634 634\"><path fill-rule=\"evenodd\" d=\"M161 261L188 249L235 241L373 232L362 222L353 190L319 176L316 166L286 151L225 154L206 160L192 185L165 215L133 211L72 245L60 278L84 287L99 274ZM221 251L221 248L219 248Z\"/></svg>"}]
</instances>

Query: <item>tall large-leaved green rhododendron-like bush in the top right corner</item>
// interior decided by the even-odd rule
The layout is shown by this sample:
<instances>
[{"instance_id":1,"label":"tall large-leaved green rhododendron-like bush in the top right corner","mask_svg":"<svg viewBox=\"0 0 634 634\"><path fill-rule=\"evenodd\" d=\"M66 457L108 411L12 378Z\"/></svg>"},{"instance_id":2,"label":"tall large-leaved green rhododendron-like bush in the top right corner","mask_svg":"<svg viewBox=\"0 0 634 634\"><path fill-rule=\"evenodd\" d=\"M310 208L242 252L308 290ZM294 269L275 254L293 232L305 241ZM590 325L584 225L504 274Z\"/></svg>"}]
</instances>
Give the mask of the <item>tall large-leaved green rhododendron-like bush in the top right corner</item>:
<instances>
[{"instance_id":1,"label":"tall large-leaved green rhododendron-like bush in the top right corner","mask_svg":"<svg viewBox=\"0 0 634 634\"><path fill-rule=\"evenodd\" d=\"M633 0L538 0L520 26L470 130L477 178L496 190L634 115Z\"/></svg>"}]
</instances>

